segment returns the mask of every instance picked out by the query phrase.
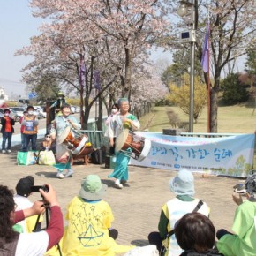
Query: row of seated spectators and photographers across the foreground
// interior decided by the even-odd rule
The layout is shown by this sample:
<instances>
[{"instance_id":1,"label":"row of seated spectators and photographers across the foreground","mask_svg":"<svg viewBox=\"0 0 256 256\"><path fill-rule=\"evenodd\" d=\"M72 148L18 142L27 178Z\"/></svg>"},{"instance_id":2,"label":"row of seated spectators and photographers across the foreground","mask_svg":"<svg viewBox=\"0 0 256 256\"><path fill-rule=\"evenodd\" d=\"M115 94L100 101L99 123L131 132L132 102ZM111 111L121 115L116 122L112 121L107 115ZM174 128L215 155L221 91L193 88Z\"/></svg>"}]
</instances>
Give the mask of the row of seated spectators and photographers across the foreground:
<instances>
[{"instance_id":1,"label":"row of seated spectators and photographers across the foreground","mask_svg":"<svg viewBox=\"0 0 256 256\"><path fill-rule=\"evenodd\" d=\"M62 255L125 252L132 255L134 246L116 242L118 231L112 227L114 216L109 203L103 200L107 185L100 177L88 175L82 179L78 194L68 205L65 228L54 188L50 184L39 188L43 200L32 203L28 197L34 188L38 189L31 176L19 180L15 194L0 185L1 255L55 255L58 251ZM215 232L207 203L193 197L194 178L190 171L178 171L170 179L169 189L175 198L162 207L159 232L151 232L148 236L149 243L156 245L159 255L255 255L256 174L245 181L246 200L241 194L233 194L238 207L232 232L223 229ZM46 211L50 211L49 225L46 230L41 230Z\"/></svg>"}]
</instances>

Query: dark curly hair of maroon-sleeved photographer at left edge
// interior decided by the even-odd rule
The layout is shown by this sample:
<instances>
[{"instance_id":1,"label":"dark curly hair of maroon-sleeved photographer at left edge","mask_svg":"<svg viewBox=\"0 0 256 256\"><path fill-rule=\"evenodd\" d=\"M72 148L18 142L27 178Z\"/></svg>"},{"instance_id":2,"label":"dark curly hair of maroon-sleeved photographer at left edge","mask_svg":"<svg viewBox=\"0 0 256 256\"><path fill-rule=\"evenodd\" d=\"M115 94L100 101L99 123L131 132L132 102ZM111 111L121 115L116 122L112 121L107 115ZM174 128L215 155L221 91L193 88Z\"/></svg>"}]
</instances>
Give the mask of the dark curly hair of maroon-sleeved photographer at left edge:
<instances>
[{"instance_id":1,"label":"dark curly hair of maroon-sleeved photographer at left edge","mask_svg":"<svg viewBox=\"0 0 256 256\"><path fill-rule=\"evenodd\" d=\"M0 237L4 238L5 243L11 242L15 237L11 211L14 211L13 192L7 186L0 185ZM0 246L2 246L1 242Z\"/></svg>"}]
</instances>

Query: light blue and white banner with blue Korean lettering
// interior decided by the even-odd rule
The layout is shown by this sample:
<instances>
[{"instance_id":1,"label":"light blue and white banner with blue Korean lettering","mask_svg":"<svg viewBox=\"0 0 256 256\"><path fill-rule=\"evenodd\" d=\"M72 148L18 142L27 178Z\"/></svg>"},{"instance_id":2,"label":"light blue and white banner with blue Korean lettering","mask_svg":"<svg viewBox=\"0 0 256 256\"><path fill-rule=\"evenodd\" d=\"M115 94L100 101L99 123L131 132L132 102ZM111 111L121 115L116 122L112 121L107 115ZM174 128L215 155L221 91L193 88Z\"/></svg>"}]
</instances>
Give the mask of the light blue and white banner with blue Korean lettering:
<instances>
[{"instance_id":1,"label":"light blue and white banner with blue Korean lettering","mask_svg":"<svg viewBox=\"0 0 256 256\"><path fill-rule=\"evenodd\" d=\"M157 132L136 132L151 140L147 157L133 165L157 169L189 169L215 175L247 177L252 169L254 134L234 134L218 138L163 135Z\"/></svg>"}]
</instances>

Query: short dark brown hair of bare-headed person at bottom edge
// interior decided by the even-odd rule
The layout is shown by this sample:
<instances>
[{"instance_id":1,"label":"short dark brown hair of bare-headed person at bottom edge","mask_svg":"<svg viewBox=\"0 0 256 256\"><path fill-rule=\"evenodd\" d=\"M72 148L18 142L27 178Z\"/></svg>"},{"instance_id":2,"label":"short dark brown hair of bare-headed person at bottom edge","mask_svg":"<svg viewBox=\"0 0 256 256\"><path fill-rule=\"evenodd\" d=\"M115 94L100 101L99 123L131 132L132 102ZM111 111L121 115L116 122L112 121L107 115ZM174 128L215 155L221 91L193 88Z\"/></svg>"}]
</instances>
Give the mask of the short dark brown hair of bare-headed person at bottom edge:
<instances>
[{"instance_id":1,"label":"short dark brown hair of bare-headed person at bottom edge","mask_svg":"<svg viewBox=\"0 0 256 256\"><path fill-rule=\"evenodd\" d=\"M175 226L177 244L183 250L207 252L215 245L215 226L205 215L184 215Z\"/></svg>"}]
</instances>

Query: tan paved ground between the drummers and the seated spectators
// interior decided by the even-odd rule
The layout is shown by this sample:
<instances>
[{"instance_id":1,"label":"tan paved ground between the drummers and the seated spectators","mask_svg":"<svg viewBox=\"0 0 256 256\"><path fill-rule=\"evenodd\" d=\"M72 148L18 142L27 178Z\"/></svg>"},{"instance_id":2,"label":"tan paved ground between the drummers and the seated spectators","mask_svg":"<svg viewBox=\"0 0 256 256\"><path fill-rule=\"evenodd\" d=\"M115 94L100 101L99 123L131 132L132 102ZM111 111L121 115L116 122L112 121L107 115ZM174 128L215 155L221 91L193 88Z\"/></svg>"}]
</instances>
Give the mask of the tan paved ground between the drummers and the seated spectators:
<instances>
[{"instance_id":1,"label":"tan paved ground between the drummers and the seated spectators","mask_svg":"<svg viewBox=\"0 0 256 256\"><path fill-rule=\"evenodd\" d=\"M173 197L169 192L169 178L175 176L174 171L130 167L129 187L115 189L108 178L109 169L103 165L73 166L75 174L66 179L56 178L56 170L47 166L18 166L17 151L11 154L0 154L1 176L0 184L6 184L15 189L19 178L32 175L36 185L52 184L58 194L64 215L66 206L79 192L79 184L88 174L97 174L109 188L104 200L109 202L115 216L113 226L119 230L117 242L129 245L147 245L147 235L157 230L162 204ZM210 218L215 228L230 229L236 205L231 200L232 186L237 184L237 178L201 177L195 174L196 196L205 200L211 207ZM34 193L32 200L39 200Z\"/></svg>"}]
</instances>

